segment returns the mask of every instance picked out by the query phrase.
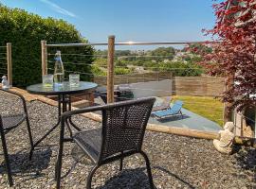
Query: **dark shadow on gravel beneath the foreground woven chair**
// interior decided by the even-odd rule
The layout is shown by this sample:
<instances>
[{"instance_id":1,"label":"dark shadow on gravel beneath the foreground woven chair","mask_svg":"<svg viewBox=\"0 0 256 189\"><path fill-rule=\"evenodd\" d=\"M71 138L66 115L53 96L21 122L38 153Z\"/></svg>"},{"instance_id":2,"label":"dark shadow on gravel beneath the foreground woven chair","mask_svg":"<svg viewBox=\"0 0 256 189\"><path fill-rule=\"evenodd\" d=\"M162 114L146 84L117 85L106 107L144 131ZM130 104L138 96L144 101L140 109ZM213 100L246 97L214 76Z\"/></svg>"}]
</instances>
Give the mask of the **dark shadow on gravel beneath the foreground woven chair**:
<instances>
[{"instance_id":1,"label":"dark shadow on gravel beneath the foreground woven chair","mask_svg":"<svg viewBox=\"0 0 256 189\"><path fill-rule=\"evenodd\" d=\"M147 188L150 188L148 175L145 170L146 170L145 167L136 168L136 169L125 169L119 172L118 175L110 178L109 180L106 180L105 185L97 187L97 189L117 189L117 188L147 189Z\"/></svg>"}]
</instances>

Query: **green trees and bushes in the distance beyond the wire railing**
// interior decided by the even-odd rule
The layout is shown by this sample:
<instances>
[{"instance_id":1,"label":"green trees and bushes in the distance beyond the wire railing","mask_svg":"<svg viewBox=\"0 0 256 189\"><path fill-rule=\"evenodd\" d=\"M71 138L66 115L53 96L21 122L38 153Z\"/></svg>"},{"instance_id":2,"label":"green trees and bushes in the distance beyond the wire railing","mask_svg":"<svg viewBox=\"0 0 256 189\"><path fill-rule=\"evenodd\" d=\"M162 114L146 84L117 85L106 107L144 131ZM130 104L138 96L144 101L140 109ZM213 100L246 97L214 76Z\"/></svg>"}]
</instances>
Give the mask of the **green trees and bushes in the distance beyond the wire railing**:
<instances>
[{"instance_id":1,"label":"green trees and bushes in the distance beyond the wire railing","mask_svg":"<svg viewBox=\"0 0 256 189\"><path fill-rule=\"evenodd\" d=\"M97 51L97 55L106 54L106 50ZM170 71L176 77L199 77L203 74L202 67L197 64L202 60L199 55L185 53L184 56L175 57L175 60L174 56L173 47L159 47L151 51L118 50L115 57L115 74L132 74L135 69L128 68L128 65L142 66L145 70L153 72ZM95 63L106 68L106 59L98 58Z\"/></svg>"}]
</instances>

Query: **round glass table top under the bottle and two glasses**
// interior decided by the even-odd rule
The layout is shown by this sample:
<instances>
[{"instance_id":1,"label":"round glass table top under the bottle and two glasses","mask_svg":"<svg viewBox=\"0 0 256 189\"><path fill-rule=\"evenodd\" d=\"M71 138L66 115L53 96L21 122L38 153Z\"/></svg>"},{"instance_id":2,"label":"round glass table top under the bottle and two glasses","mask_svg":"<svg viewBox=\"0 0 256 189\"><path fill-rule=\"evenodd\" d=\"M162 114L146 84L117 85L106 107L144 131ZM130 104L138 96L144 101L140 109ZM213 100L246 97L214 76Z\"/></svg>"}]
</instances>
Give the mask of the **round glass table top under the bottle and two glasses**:
<instances>
[{"instance_id":1,"label":"round glass table top under the bottle and two glasses","mask_svg":"<svg viewBox=\"0 0 256 189\"><path fill-rule=\"evenodd\" d=\"M53 84L52 87L45 87L43 83L27 86L30 94L58 95L58 94L79 94L92 91L98 87L97 83L80 81L78 86L70 86L68 81L62 85Z\"/></svg>"}]
</instances>

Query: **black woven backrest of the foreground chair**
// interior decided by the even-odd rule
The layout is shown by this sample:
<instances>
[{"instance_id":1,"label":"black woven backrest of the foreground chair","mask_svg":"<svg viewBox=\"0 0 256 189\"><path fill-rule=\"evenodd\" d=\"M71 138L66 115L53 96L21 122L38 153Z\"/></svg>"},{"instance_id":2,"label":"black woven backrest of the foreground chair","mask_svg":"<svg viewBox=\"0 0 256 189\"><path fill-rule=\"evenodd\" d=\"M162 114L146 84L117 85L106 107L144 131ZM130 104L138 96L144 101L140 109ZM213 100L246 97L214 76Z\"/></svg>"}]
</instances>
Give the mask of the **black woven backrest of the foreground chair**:
<instances>
[{"instance_id":1,"label":"black woven backrest of the foreground chair","mask_svg":"<svg viewBox=\"0 0 256 189\"><path fill-rule=\"evenodd\" d=\"M112 104L102 110L102 146L99 162L125 151L141 150L155 98Z\"/></svg>"}]
</instances>

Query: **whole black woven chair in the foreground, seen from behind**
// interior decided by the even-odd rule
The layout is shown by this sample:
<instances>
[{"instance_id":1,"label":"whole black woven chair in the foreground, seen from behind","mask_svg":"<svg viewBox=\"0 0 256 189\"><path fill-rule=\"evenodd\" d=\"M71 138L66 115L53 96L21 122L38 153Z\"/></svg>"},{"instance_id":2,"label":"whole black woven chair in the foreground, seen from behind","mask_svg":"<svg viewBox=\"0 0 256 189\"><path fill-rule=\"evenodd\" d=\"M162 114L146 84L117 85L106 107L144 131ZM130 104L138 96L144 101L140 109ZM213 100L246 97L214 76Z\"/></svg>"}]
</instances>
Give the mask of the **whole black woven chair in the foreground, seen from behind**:
<instances>
[{"instance_id":1,"label":"whole black woven chair in the foreground, seen from behind","mask_svg":"<svg viewBox=\"0 0 256 189\"><path fill-rule=\"evenodd\" d=\"M135 153L140 153L145 159L150 187L154 188L150 162L141 149L146 125L154 102L155 98L147 97L64 112L62 115L59 155L56 164L57 188L61 186L64 123L66 119L72 115L96 111L101 111L102 113L102 128L85 130L73 135L73 141L95 163L87 178L87 188L91 188L93 174L102 164L120 160L119 170L122 170L124 157Z\"/></svg>"}]
</instances>

